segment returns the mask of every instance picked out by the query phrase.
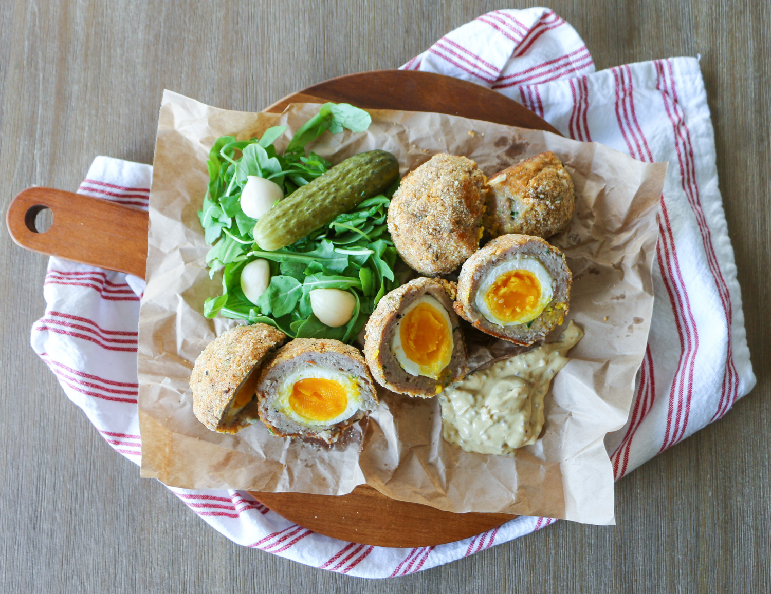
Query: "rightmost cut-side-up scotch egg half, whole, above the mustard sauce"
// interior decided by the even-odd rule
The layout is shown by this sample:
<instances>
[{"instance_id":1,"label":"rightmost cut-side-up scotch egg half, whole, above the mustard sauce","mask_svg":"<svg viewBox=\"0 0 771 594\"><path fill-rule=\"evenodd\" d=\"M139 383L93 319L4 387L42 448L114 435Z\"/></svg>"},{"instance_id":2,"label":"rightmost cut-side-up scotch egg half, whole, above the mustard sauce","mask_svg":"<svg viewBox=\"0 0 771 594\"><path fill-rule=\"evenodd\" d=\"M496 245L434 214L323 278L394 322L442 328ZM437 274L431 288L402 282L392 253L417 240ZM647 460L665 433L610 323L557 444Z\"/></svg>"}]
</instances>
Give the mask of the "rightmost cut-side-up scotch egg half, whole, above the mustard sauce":
<instances>
[{"instance_id":1,"label":"rightmost cut-side-up scotch egg half, whole, above the mustard sauce","mask_svg":"<svg viewBox=\"0 0 771 594\"><path fill-rule=\"evenodd\" d=\"M454 307L487 334L533 344L562 323L571 280L560 250L540 237L510 233L463 263Z\"/></svg>"}]
</instances>

